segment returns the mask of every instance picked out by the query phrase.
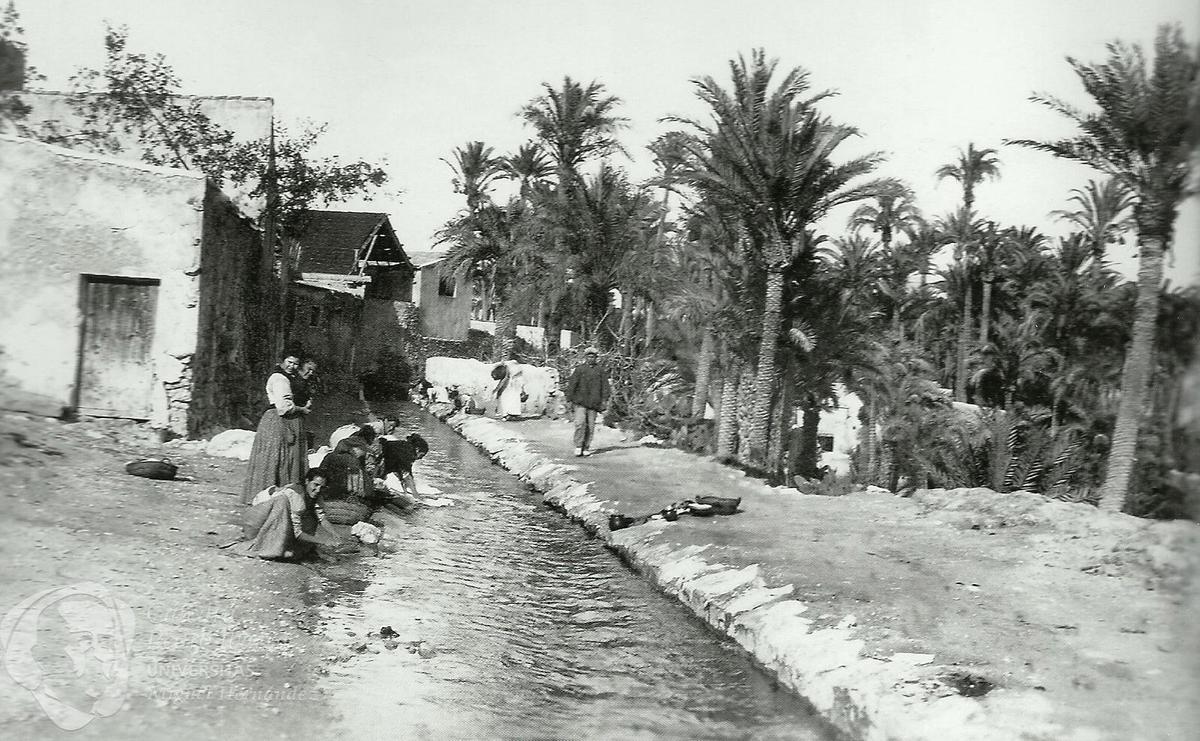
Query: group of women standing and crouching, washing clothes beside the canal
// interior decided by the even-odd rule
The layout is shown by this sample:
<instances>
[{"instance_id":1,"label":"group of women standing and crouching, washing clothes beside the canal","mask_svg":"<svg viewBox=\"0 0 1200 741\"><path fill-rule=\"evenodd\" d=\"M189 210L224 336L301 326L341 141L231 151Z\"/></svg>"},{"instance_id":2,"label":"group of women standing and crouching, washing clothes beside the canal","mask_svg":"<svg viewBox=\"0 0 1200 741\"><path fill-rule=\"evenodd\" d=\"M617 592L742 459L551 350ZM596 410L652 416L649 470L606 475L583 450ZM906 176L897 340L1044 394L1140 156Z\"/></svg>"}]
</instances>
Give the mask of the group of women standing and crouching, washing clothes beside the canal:
<instances>
[{"instance_id":1,"label":"group of women standing and crouching, washing clothes beside the canal","mask_svg":"<svg viewBox=\"0 0 1200 741\"><path fill-rule=\"evenodd\" d=\"M290 354L266 379L268 408L251 447L242 502L248 506L245 540L239 552L263 559L302 559L319 544L337 546L348 537L326 518L322 502L376 501L376 481L395 474L403 493L416 496L413 463L428 452L418 435L396 436L396 420L340 428L332 451L318 468L308 466L308 384L317 363Z\"/></svg>"}]
</instances>

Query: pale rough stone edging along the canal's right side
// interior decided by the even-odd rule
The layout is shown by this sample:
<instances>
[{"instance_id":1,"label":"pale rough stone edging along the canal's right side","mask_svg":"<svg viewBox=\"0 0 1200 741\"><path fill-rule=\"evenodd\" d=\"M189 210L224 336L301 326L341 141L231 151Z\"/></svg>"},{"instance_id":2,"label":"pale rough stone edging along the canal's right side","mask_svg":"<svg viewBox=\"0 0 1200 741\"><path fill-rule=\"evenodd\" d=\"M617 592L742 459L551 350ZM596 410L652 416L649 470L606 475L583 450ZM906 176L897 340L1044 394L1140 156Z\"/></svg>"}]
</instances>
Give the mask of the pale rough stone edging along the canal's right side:
<instances>
[{"instance_id":1,"label":"pale rough stone edging along the canal's right side","mask_svg":"<svg viewBox=\"0 0 1200 741\"><path fill-rule=\"evenodd\" d=\"M702 546L666 542L667 525L661 522L612 532L607 525L611 504L594 496L592 483L578 481L574 466L535 452L511 428L490 418L431 412L540 492L546 505L604 541L662 592L737 641L850 739L1096 737L1094 729L1067 729L1052 722L1048 704L1038 698L1031 701L1026 693L1008 699L994 693L986 706L976 698L947 693L922 670L929 663L926 655L913 653L908 663L864 656L865 641L854 637L852 618L816 627L805 614L809 606L788 598L792 586L768 584L758 565L733 568L709 562Z\"/></svg>"}]
</instances>

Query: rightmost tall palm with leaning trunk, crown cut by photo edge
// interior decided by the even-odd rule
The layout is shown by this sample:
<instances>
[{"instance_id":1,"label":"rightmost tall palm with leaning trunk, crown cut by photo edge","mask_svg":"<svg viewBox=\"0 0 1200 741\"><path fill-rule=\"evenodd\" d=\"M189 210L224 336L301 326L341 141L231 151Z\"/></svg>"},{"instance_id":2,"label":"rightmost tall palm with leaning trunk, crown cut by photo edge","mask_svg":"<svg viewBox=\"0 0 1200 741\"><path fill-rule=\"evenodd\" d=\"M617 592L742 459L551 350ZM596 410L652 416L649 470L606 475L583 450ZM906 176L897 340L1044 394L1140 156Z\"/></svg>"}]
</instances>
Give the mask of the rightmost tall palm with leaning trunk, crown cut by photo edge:
<instances>
[{"instance_id":1,"label":"rightmost tall palm with leaning trunk, crown cut by photo edge","mask_svg":"<svg viewBox=\"0 0 1200 741\"><path fill-rule=\"evenodd\" d=\"M1189 157L1198 139L1200 60L1178 25L1159 26L1148 71L1139 44L1116 41L1108 44L1108 59L1097 64L1067 58L1098 110L1085 113L1051 96L1031 98L1070 119L1079 133L1056 141L1022 139L1014 144L1088 164L1120 180L1138 198L1133 212L1138 302L1100 492L1102 508L1121 511L1153 368L1163 253L1171 243L1178 205L1188 194Z\"/></svg>"}]
</instances>

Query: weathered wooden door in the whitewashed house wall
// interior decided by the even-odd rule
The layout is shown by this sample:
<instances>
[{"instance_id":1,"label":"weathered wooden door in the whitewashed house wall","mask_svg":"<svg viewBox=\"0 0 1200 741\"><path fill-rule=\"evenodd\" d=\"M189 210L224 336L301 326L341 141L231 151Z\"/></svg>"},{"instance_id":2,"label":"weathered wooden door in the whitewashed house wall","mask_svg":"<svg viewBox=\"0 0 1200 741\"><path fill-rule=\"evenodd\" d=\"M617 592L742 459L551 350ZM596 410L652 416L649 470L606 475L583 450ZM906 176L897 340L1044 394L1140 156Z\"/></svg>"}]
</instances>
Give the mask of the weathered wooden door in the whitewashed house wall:
<instances>
[{"instance_id":1,"label":"weathered wooden door in the whitewashed house wall","mask_svg":"<svg viewBox=\"0 0 1200 741\"><path fill-rule=\"evenodd\" d=\"M150 418L158 282L84 276L79 414Z\"/></svg>"}]
</instances>

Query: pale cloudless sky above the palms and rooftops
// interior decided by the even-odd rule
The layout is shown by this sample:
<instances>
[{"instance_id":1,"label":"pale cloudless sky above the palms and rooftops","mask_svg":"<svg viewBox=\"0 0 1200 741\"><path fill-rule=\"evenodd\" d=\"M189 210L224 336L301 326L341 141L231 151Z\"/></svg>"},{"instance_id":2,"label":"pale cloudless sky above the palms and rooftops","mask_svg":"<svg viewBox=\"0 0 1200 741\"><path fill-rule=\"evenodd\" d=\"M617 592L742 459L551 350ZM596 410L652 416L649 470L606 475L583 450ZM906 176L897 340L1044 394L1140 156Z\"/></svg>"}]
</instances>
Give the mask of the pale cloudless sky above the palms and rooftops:
<instances>
[{"instance_id":1,"label":"pale cloudless sky above the palms and rooftops","mask_svg":"<svg viewBox=\"0 0 1200 741\"><path fill-rule=\"evenodd\" d=\"M1050 92L1086 106L1066 56L1100 61L1120 38L1152 46L1164 22L1200 40L1195 0L17 0L30 61L64 89L80 65L103 59L106 20L130 46L161 52L196 95L266 96L276 119L328 123L323 153L385 162L386 193L335 209L386 211L408 249L462 207L451 187L456 146L482 140L498 153L532 138L517 112L564 76L602 83L629 119L614 163L653 174L646 145L672 128L664 116L701 118L691 80L728 79L728 60L764 48L780 71L800 66L826 104L862 135L845 156L883 151L878 174L911 183L929 216L961 201L935 170L959 147L998 149L1002 176L977 189L976 207L1001 224L1063 234L1049 213L1100 175L1008 139L1054 139L1069 122L1030 102ZM840 234L848 213L823 230ZM1111 253L1127 275L1134 248ZM1168 270L1200 284L1200 199L1181 210Z\"/></svg>"}]
</instances>

